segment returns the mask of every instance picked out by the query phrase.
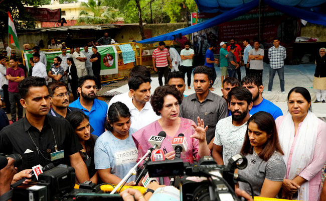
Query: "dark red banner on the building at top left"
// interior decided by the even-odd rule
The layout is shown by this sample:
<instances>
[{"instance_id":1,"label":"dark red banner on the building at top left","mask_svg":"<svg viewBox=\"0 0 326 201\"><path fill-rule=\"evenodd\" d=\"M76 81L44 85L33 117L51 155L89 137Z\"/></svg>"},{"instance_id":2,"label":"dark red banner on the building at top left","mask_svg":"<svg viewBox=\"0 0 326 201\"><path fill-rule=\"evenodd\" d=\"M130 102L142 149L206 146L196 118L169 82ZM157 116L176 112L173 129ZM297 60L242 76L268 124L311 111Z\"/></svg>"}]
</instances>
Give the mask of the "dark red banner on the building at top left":
<instances>
[{"instance_id":1,"label":"dark red banner on the building at top left","mask_svg":"<svg viewBox=\"0 0 326 201\"><path fill-rule=\"evenodd\" d=\"M61 19L61 9L45 9L25 7L26 11L32 15L35 21L40 22L58 22Z\"/></svg>"}]
</instances>

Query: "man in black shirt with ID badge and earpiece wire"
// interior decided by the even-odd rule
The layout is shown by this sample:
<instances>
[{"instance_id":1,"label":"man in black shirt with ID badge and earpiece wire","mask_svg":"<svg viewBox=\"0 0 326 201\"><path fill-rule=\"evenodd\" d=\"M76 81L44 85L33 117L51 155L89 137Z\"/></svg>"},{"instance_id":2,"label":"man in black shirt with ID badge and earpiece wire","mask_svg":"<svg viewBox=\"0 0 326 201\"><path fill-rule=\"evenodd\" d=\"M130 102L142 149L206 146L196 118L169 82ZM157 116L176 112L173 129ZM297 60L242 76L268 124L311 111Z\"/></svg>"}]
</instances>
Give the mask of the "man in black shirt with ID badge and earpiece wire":
<instances>
[{"instance_id":1,"label":"man in black shirt with ID badge and earpiece wire","mask_svg":"<svg viewBox=\"0 0 326 201\"><path fill-rule=\"evenodd\" d=\"M79 151L83 149L70 123L48 115L50 94L42 77L28 77L19 83L20 103L25 118L0 132L0 153L17 153L23 164L19 170L49 163L71 165L79 182L89 180L86 165Z\"/></svg>"}]
</instances>

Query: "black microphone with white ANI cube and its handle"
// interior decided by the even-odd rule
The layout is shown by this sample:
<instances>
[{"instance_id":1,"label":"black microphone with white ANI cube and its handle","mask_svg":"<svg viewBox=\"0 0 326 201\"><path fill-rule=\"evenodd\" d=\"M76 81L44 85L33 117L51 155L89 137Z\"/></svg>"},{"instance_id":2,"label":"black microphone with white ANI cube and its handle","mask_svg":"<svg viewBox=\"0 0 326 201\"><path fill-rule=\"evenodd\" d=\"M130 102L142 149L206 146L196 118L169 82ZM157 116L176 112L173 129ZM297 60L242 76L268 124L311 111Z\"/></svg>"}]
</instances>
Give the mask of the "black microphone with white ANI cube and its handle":
<instances>
[{"instance_id":1,"label":"black microphone with white ANI cube and its handle","mask_svg":"<svg viewBox=\"0 0 326 201\"><path fill-rule=\"evenodd\" d=\"M160 145L162 144L163 140L167 137L167 133L164 131L161 131L158 133L157 136L150 136L148 139L148 142L153 146L150 147L148 150L150 151L147 157L145 158L144 162L142 163L142 170L140 171L138 177L136 178L135 182L136 185L139 183L140 179L142 178L143 175L145 175L145 170L146 170L146 165L148 160L150 160L151 152L156 149L160 148Z\"/></svg>"}]
</instances>

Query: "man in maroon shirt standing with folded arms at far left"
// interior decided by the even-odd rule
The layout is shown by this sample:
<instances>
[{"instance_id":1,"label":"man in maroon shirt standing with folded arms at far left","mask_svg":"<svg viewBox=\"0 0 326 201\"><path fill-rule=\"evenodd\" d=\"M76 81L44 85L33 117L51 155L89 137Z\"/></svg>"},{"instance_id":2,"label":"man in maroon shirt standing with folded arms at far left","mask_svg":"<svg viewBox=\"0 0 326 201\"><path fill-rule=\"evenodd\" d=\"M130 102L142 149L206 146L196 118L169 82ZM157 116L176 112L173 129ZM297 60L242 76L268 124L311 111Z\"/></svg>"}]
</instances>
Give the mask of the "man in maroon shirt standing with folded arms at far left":
<instances>
[{"instance_id":1,"label":"man in maroon shirt standing with folded arms at far left","mask_svg":"<svg viewBox=\"0 0 326 201\"><path fill-rule=\"evenodd\" d=\"M23 118L23 107L20 103L22 98L19 90L18 84L25 78L25 72L22 68L18 67L17 59L9 60L10 68L7 69L6 77L8 79L8 92L9 92L9 102L11 104L11 116L13 123L16 122L16 103L18 108L18 120Z\"/></svg>"}]
</instances>

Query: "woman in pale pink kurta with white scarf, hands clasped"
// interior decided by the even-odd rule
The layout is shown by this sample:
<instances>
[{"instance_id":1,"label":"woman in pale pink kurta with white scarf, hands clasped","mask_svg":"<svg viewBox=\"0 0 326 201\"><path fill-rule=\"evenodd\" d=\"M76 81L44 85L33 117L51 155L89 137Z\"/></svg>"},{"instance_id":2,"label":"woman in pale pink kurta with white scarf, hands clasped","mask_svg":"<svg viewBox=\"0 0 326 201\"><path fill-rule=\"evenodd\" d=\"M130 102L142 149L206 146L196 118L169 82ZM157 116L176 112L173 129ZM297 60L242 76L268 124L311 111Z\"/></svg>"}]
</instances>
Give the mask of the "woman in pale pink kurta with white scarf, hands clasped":
<instances>
[{"instance_id":1,"label":"woman in pale pink kurta with white scarf, hands clasped","mask_svg":"<svg viewBox=\"0 0 326 201\"><path fill-rule=\"evenodd\" d=\"M326 124L309 111L307 89L295 87L287 99L289 113L276 119L287 169L282 198L292 199L297 191L298 200L318 200L326 160Z\"/></svg>"}]
</instances>

